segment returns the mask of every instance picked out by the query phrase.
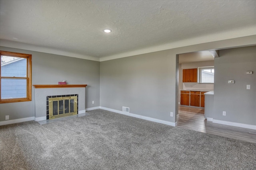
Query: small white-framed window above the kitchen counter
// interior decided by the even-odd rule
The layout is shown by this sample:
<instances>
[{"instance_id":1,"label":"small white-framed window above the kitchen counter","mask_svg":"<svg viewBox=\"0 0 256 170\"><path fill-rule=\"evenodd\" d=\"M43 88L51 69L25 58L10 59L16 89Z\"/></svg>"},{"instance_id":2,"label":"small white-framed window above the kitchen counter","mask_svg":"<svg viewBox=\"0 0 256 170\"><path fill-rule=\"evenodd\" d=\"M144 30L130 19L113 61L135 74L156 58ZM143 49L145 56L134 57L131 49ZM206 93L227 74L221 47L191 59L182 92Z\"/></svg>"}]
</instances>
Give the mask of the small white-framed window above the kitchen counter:
<instances>
[{"instance_id":1,"label":"small white-framed window above the kitchen counter","mask_svg":"<svg viewBox=\"0 0 256 170\"><path fill-rule=\"evenodd\" d=\"M199 83L214 83L214 66L198 67Z\"/></svg>"}]
</instances>

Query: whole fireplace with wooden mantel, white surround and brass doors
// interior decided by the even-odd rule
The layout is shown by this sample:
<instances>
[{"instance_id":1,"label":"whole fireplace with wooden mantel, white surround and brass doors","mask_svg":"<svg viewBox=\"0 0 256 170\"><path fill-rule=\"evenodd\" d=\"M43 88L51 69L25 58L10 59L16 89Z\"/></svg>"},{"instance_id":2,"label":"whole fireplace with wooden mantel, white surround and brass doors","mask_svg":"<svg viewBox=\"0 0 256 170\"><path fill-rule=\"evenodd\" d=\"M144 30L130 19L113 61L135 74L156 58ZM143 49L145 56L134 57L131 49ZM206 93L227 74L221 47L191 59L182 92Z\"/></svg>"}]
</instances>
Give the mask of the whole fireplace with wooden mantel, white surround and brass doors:
<instances>
[{"instance_id":1,"label":"whole fireplace with wooden mantel, white surround and brass doors","mask_svg":"<svg viewBox=\"0 0 256 170\"><path fill-rule=\"evenodd\" d=\"M85 113L86 84L42 84L33 86L35 89L36 121Z\"/></svg>"}]
</instances>

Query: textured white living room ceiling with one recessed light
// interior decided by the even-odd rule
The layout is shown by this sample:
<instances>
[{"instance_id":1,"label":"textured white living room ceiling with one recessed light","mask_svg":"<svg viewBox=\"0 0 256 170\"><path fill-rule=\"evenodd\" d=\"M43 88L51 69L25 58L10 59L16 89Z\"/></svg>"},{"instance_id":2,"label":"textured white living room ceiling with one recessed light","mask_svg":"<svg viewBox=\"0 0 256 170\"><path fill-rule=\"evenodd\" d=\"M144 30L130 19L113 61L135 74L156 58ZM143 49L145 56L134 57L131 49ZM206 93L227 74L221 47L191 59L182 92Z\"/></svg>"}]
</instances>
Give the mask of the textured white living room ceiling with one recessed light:
<instances>
[{"instance_id":1,"label":"textured white living room ceiling with one recessed light","mask_svg":"<svg viewBox=\"0 0 256 170\"><path fill-rule=\"evenodd\" d=\"M1 46L95 61L255 35L255 28L255 0L0 0Z\"/></svg>"}]
</instances>

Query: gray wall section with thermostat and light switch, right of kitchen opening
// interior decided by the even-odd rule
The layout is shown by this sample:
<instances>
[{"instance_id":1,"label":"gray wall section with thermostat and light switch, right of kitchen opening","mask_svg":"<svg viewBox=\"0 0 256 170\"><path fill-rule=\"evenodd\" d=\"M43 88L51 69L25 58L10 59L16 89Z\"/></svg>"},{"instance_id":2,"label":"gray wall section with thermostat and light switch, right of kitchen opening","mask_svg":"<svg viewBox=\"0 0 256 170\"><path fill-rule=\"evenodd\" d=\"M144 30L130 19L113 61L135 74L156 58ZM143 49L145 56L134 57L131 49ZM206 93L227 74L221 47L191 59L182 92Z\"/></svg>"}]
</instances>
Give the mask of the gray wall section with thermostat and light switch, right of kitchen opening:
<instances>
[{"instance_id":1,"label":"gray wall section with thermostat and light switch, right of kitchen opening","mask_svg":"<svg viewBox=\"0 0 256 170\"><path fill-rule=\"evenodd\" d=\"M256 125L256 46L220 50L214 68L213 118ZM235 84L228 84L228 80L235 80ZM250 90L246 90L247 84Z\"/></svg>"}]
</instances>

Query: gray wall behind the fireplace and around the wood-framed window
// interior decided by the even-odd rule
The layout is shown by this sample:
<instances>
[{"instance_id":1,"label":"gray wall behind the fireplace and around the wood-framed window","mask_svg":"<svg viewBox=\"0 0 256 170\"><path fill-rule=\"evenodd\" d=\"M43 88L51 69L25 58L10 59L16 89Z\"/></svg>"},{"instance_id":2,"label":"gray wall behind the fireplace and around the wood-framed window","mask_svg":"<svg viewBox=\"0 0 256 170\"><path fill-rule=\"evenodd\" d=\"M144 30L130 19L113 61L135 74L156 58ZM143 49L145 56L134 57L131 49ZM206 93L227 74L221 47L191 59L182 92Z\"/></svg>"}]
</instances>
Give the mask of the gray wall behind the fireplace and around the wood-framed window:
<instances>
[{"instance_id":1,"label":"gray wall behind the fireplace and around the wood-framed window","mask_svg":"<svg viewBox=\"0 0 256 170\"><path fill-rule=\"evenodd\" d=\"M8 47L0 50L32 54L32 84L58 84L62 80L68 84L88 84L86 108L100 106L100 62ZM10 120L33 117L34 88L31 102L0 104L0 121L5 120L5 115Z\"/></svg>"}]
</instances>

